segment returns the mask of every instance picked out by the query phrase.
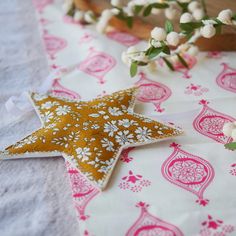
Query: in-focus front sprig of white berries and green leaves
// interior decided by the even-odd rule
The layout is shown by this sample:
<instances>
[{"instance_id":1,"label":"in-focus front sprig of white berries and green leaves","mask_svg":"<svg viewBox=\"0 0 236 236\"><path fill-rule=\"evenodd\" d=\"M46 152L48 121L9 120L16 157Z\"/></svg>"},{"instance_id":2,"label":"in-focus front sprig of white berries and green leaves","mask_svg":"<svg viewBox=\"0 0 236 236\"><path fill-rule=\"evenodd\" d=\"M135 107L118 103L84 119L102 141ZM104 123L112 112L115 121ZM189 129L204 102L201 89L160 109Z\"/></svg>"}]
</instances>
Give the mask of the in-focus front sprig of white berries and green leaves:
<instances>
[{"instance_id":1,"label":"in-focus front sprig of white berries and green leaves","mask_svg":"<svg viewBox=\"0 0 236 236\"><path fill-rule=\"evenodd\" d=\"M229 10L226 10L229 11ZM230 14L231 15L231 14ZM230 17L230 22L236 20L236 15ZM174 71L174 63L179 61L184 67L188 68L188 62L183 55L185 53L195 56L198 48L194 46L196 40L200 37L211 38L215 34L221 33L221 28L228 25L229 22L221 21L219 18L205 17L200 21L194 21L190 13L184 13L180 18L181 31L175 32L173 24L168 20L165 28L155 27L151 32L148 48L139 51L132 48L123 54L124 63L130 65L130 75L135 76L138 66L146 66L158 58L162 58L166 66ZM179 44L180 40L185 41ZM174 47L174 49L173 49ZM135 53L134 53L135 51ZM139 60L138 60L138 59Z\"/></svg>"}]
</instances>

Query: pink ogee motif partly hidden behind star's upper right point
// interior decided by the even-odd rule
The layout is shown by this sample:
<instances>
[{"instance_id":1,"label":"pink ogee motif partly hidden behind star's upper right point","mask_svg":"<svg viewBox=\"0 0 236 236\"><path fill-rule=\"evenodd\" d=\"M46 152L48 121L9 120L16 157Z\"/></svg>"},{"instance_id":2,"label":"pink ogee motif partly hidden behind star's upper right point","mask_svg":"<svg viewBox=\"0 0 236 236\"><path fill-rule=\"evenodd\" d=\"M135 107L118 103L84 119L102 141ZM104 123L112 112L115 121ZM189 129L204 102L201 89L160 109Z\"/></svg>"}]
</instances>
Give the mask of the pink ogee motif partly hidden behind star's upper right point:
<instances>
[{"instance_id":1,"label":"pink ogee motif partly hidden behind star's upper right point","mask_svg":"<svg viewBox=\"0 0 236 236\"><path fill-rule=\"evenodd\" d=\"M135 83L139 88L137 99L141 102L152 103L155 111L163 112L165 109L161 108L161 103L171 96L171 90L164 84L148 79L143 72L139 75L140 79Z\"/></svg>"}]
</instances>

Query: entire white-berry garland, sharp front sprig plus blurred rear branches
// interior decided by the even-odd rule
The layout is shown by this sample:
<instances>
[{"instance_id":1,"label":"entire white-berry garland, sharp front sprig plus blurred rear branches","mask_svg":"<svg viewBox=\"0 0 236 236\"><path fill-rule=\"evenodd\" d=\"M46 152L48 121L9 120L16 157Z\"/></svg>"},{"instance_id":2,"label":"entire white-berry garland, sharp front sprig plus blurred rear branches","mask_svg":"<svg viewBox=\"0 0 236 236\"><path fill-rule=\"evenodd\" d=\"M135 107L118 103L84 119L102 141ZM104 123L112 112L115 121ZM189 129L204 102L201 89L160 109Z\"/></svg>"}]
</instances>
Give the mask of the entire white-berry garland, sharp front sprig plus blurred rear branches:
<instances>
[{"instance_id":1,"label":"entire white-berry garland, sharp front sprig plus blurred rear branches","mask_svg":"<svg viewBox=\"0 0 236 236\"><path fill-rule=\"evenodd\" d=\"M230 9L222 10L217 17L207 15L204 0L130 0L123 4L121 0L111 0L110 9L105 9L100 17L91 11L83 12L75 9L73 1L67 0L64 10L75 21L94 23L98 32L105 32L109 20L116 17L132 28L134 18L158 15L164 12L167 21L165 27L155 27L145 50L134 47L122 53L122 60L130 67L130 75L134 77L138 68L148 66L156 68L156 60L162 59L166 66L174 71L179 62L188 68L184 55L196 56L198 48L194 45L198 38L212 38L220 34L225 25L236 25L236 14ZM174 30L172 20L179 19L180 31Z\"/></svg>"}]
</instances>

